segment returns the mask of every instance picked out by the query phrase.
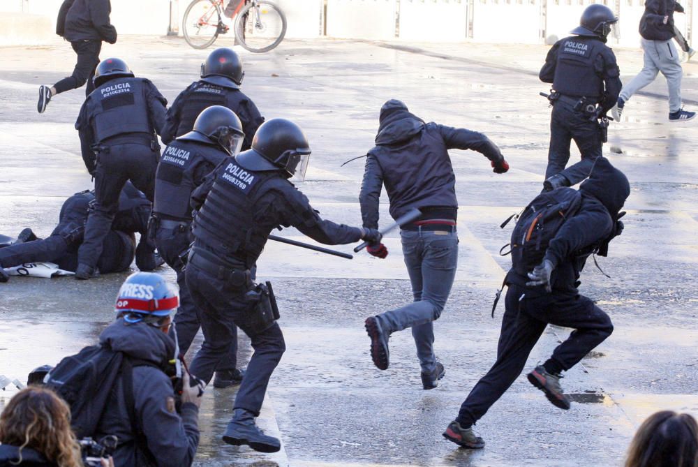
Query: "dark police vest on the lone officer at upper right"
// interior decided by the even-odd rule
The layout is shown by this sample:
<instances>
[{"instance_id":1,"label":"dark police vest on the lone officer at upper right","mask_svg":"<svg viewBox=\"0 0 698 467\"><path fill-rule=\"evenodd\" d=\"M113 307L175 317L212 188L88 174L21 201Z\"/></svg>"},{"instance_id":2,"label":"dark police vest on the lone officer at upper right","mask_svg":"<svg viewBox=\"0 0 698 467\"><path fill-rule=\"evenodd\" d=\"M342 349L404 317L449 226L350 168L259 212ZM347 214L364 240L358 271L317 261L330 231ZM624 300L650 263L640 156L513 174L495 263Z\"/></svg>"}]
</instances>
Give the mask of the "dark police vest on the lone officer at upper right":
<instances>
[{"instance_id":1,"label":"dark police vest on the lone officer at upper right","mask_svg":"<svg viewBox=\"0 0 698 467\"><path fill-rule=\"evenodd\" d=\"M604 82L594 61L606 45L597 38L570 36L560 40L553 89L561 94L601 101Z\"/></svg>"}]
</instances>

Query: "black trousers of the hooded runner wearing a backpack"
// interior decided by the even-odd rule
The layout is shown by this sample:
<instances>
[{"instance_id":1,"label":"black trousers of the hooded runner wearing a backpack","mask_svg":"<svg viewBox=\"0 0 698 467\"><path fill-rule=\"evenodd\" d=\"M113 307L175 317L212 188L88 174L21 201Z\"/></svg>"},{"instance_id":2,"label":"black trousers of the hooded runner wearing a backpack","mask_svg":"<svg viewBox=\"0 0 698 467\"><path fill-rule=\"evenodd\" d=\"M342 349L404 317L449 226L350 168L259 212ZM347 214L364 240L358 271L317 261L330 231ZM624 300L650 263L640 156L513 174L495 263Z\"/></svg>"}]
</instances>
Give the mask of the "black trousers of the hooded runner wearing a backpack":
<instances>
[{"instance_id":1,"label":"black trousers of the hooded runner wearing a backpack","mask_svg":"<svg viewBox=\"0 0 698 467\"><path fill-rule=\"evenodd\" d=\"M575 329L551 356L563 370L572 368L613 332L611 318L587 297L557 291L528 297L527 292L528 289L514 285L507 290L497 361L461 405L456 420L463 427L480 420L519 377L548 324Z\"/></svg>"}]
</instances>

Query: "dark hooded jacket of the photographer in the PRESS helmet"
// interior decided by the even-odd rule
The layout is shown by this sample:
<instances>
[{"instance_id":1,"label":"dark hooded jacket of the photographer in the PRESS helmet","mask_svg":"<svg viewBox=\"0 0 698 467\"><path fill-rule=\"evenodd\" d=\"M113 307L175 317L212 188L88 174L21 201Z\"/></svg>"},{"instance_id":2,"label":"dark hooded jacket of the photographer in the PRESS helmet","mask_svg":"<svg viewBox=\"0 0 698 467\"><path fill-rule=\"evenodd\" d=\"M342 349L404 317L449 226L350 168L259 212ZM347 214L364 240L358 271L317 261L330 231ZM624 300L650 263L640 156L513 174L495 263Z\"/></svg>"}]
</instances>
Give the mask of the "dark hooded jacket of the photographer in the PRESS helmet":
<instances>
[{"instance_id":1,"label":"dark hooded jacket of the photographer in the PRESS helmet","mask_svg":"<svg viewBox=\"0 0 698 467\"><path fill-rule=\"evenodd\" d=\"M135 442L123 380L119 379L112 389L96 433L97 439L110 434L119 438L114 465L191 466L199 445L198 408L193 403L184 403L181 415L178 415L174 411L170 378L155 367L165 364L174 355L172 338L145 323L128 324L119 319L102 332L99 341L129 357L154 365L133 368L135 416L154 462L146 459Z\"/></svg>"}]
</instances>

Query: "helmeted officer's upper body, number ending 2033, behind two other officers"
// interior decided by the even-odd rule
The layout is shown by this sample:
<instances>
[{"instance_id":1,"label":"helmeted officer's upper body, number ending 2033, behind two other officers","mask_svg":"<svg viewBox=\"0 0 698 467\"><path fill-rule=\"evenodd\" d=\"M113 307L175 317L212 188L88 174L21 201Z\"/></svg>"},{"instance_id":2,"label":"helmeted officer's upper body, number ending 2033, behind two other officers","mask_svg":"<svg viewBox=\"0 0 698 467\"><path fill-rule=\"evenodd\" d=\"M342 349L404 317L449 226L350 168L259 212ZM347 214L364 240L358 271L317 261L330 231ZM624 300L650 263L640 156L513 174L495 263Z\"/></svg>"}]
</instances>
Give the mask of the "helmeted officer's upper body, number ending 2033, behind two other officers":
<instances>
[{"instance_id":1,"label":"helmeted officer's upper body, number ending 2033, behind two other officers","mask_svg":"<svg viewBox=\"0 0 698 467\"><path fill-rule=\"evenodd\" d=\"M194 120L205 108L223 105L235 112L242 121L245 132L242 150L250 149L252 138L264 117L255 103L240 91L244 75L242 61L235 51L221 47L211 52L201 64L201 79L181 91L168 110L162 133L163 142L170 144L177 136L191 131Z\"/></svg>"}]
</instances>

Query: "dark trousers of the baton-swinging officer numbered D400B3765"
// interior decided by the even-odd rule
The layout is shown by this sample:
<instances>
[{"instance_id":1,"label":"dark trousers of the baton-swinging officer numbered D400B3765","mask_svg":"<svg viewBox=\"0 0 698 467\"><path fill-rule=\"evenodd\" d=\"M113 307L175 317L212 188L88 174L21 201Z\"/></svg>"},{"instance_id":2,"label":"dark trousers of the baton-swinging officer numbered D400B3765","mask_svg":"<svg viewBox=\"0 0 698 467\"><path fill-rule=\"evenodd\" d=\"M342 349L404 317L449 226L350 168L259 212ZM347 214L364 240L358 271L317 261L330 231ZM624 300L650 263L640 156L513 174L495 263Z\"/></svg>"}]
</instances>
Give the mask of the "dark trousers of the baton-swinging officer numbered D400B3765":
<instances>
[{"instance_id":1,"label":"dark trousers of the baton-swinging officer numbered D400B3765","mask_svg":"<svg viewBox=\"0 0 698 467\"><path fill-rule=\"evenodd\" d=\"M269 378L286 350L281 328L274 323L260 333L251 332L245 325L246 315L251 313L251 305L245 299L246 288L232 286L230 281L218 279L191 262L186 267L186 285L200 311L204 332L204 343L191 363L191 373L207 383L211 380L214 370L228 356L238 325L250 337L254 353L233 408L259 415Z\"/></svg>"}]
</instances>

